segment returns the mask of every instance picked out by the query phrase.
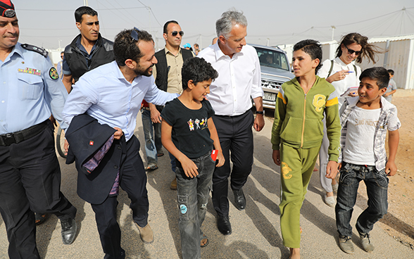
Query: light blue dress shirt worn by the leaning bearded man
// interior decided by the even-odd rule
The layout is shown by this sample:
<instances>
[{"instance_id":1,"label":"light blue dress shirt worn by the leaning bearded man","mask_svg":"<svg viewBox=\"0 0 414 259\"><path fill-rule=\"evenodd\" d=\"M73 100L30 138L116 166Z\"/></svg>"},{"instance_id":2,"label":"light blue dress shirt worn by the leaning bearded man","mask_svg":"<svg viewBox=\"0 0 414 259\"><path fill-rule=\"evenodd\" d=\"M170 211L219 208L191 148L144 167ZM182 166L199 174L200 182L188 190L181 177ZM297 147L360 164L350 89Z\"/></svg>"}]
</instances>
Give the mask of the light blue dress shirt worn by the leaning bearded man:
<instances>
[{"instance_id":1,"label":"light blue dress shirt worn by the leaning bearded man","mask_svg":"<svg viewBox=\"0 0 414 259\"><path fill-rule=\"evenodd\" d=\"M70 124L75 115L86 112L100 124L120 127L128 141L134 134L142 99L164 105L177 96L158 89L152 76L135 77L131 84L113 61L80 77L66 100L62 115Z\"/></svg>"}]
</instances>

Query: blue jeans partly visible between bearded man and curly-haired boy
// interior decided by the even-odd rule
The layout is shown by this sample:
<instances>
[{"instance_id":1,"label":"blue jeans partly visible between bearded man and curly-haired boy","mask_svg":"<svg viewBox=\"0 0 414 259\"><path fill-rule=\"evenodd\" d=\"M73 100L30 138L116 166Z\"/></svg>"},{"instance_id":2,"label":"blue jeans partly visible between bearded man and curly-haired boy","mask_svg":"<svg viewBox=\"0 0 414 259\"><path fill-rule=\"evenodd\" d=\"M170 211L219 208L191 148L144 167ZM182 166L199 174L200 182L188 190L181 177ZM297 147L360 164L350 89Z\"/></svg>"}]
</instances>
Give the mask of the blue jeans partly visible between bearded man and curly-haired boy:
<instances>
[{"instance_id":1,"label":"blue jeans partly visible between bearded man and curly-haired boy","mask_svg":"<svg viewBox=\"0 0 414 259\"><path fill-rule=\"evenodd\" d=\"M141 110L142 118L142 128L144 130L144 139L145 139L145 153L146 159L149 164L157 164L157 150L162 149L161 144L161 131L159 132L159 137L154 138L153 124L151 121L151 112L146 109ZM155 128L155 127L154 127ZM158 131L155 130L157 136ZM158 140L159 139L159 140Z\"/></svg>"}]
</instances>

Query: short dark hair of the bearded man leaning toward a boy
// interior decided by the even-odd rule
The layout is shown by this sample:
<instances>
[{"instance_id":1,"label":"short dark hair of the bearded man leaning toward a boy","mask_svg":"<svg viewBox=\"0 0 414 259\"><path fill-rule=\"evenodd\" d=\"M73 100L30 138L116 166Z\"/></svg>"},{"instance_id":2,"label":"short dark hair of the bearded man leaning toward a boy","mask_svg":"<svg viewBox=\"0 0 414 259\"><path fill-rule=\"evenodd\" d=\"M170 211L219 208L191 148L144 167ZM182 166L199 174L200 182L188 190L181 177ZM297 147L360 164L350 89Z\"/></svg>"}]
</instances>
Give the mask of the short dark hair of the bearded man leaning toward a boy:
<instances>
[{"instance_id":1,"label":"short dark hair of the bearded man leaning toward a boy","mask_svg":"<svg viewBox=\"0 0 414 259\"><path fill-rule=\"evenodd\" d=\"M127 59L132 59L133 61L139 61L139 58L144 56L138 48L138 42L153 42L151 34L144 30L135 30L137 32L138 41L135 40L131 32L132 30L123 30L118 33L113 42L113 54L115 55L115 61L121 67L125 65Z\"/></svg>"}]
</instances>

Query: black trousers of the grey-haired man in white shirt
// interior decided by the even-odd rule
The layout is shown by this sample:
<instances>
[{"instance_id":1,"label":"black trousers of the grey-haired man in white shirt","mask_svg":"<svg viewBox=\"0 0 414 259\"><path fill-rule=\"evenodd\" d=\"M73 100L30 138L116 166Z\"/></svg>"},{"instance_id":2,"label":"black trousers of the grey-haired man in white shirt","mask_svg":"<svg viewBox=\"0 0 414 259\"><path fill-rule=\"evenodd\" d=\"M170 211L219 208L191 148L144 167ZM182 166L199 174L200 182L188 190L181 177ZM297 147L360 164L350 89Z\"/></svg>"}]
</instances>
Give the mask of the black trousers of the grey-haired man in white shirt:
<instances>
[{"instance_id":1,"label":"black trousers of the grey-haired man in white shirt","mask_svg":"<svg viewBox=\"0 0 414 259\"><path fill-rule=\"evenodd\" d=\"M214 115L225 164L215 168L213 174L213 206L219 216L229 215L228 177L232 190L241 189L247 181L253 165L253 113L237 116ZM230 168L230 153L233 168Z\"/></svg>"}]
</instances>

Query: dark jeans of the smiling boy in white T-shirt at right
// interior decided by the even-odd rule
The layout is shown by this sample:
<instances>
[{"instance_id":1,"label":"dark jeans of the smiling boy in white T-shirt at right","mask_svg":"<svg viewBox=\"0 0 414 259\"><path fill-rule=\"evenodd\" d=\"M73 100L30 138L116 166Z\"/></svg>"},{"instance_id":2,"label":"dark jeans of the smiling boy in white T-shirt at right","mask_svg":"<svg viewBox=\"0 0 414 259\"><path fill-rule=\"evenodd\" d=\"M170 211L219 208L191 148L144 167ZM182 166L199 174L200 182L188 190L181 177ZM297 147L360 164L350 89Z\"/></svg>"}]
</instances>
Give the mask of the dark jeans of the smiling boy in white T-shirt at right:
<instances>
[{"instance_id":1,"label":"dark jeans of the smiling boy in white T-shirt at right","mask_svg":"<svg viewBox=\"0 0 414 259\"><path fill-rule=\"evenodd\" d=\"M370 232L375 222L387 213L388 177L385 171L378 172L372 165L342 163L337 206L335 206L337 229L342 236L352 236L352 227L349 222L361 180L367 186L368 208L359 215L356 221L358 232L363 234Z\"/></svg>"}]
</instances>

